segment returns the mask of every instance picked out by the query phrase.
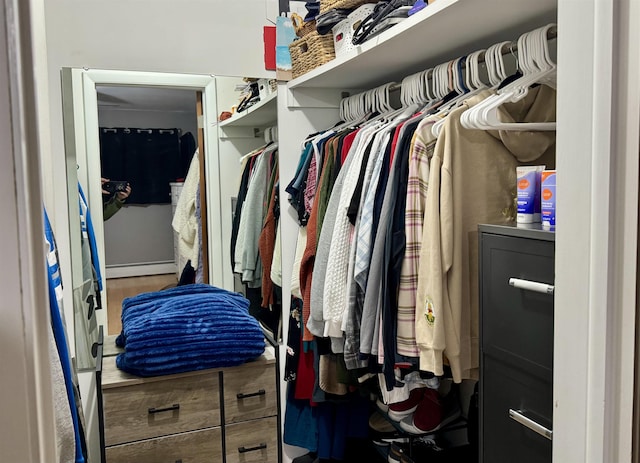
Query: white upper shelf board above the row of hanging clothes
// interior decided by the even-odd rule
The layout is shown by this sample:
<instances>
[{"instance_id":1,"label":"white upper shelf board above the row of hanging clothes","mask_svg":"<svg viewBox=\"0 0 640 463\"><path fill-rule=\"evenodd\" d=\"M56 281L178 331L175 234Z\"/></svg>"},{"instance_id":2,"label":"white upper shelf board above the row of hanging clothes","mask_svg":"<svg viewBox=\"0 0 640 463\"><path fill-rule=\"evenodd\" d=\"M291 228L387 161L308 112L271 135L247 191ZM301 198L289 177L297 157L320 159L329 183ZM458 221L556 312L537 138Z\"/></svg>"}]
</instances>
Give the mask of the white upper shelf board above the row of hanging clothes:
<instances>
[{"instance_id":1,"label":"white upper shelf board above the row of hanging clothes","mask_svg":"<svg viewBox=\"0 0 640 463\"><path fill-rule=\"evenodd\" d=\"M556 21L556 0L436 0L287 87L364 89Z\"/></svg>"}]
</instances>

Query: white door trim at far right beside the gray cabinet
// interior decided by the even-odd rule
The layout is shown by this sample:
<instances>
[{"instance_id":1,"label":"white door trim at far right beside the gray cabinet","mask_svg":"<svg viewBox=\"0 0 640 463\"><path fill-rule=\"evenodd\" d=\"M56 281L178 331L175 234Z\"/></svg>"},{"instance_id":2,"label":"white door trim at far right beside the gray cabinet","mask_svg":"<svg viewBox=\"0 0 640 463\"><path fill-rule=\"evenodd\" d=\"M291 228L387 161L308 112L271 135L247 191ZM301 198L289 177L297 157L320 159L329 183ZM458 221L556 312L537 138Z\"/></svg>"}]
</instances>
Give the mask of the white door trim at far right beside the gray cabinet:
<instances>
[{"instance_id":1,"label":"white door trim at far right beside the gray cabinet","mask_svg":"<svg viewBox=\"0 0 640 463\"><path fill-rule=\"evenodd\" d=\"M558 462L631 461L639 9L635 0L558 0Z\"/></svg>"}]
</instances>

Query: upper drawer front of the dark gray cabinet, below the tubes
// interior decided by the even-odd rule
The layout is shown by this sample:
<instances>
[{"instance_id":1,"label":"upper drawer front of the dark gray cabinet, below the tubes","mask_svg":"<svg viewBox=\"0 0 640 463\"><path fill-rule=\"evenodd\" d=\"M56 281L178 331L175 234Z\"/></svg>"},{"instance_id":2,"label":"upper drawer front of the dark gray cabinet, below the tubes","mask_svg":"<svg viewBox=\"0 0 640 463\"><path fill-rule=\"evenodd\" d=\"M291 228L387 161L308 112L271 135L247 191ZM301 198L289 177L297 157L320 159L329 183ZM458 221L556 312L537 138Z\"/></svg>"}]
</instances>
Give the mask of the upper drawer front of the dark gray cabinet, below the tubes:
<instances>
[{"instance_id":1,"label":"upper drawer front of the dark gray cabinet, below the tubes","mask_svg":"<svg viewBox=\"0 0 640 463\"><path fill-rule=\"evenodd\" d=\"M509 286L510 278L554 283L554 243L481 235L481 349L551 381L553 295Z\"/></svg>"}]
</instances>

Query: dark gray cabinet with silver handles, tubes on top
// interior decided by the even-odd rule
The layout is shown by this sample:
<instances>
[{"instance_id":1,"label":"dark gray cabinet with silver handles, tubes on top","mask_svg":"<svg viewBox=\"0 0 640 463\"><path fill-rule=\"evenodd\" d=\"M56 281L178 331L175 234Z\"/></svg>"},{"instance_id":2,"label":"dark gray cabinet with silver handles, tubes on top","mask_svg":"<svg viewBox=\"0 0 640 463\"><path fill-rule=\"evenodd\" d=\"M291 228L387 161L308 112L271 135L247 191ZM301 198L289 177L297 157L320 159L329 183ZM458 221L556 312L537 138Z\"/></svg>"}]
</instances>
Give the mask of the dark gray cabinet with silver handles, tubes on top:
<instances>
[{"instance_id":1,"label":"dark gray cabinet with silver handles, tubes on top","mask_svg":"<svg viewBox=\"0 0 640 463\"><path fill-rule=\"evenodd\" d=\"M479 231L480 461L551 462L554 234Z\"/></svg>"}]
</instances>

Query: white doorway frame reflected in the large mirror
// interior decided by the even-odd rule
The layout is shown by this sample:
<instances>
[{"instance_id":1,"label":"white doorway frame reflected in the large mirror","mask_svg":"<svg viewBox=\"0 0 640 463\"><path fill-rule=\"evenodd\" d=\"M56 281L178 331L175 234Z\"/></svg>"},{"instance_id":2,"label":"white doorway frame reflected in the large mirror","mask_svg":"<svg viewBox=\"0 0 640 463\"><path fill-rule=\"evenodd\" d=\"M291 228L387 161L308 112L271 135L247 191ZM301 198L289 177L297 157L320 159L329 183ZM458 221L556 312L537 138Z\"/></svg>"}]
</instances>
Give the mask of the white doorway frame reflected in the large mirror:
<instances>
[{"instance_id":1,"label":"white doorway frame reflected in the large mirror","mask_svg":"<svg viewBox=\"0 0 640 463\"><path fill-rule=\"evenodd\" d=\"M98 121L98 97L97 86L127 86L127 87L155 87L166 89L182 89L202 92L203 115L198 118L198 129L204 132L205 169L204 180L206 184L207 203L207 243L209 252L207 255L208 277L212 285L223 286L224 275L222 265L222 218L220 203L220 162L217 146L217 106L216 106L216 80L214 75L203 74L179 74L166 72L146 71L119 71L106 69L81 69L64 68L64 72L71 73L73 95L72 108L66 108L69 114L73 114L73 140L68 140L74 149L67 146L67 184L69 198L77 195L76 184L78 180L86 188L89 197L89 208L92 211L94 232L98 257L100 259L100 272L106 278L105 246L104 246L104 220L102 216L102 192L100 182L100 141ZM66 123L65 123L66 125ZM65 130L66 131L66 130ZM67 135L65 135L66 137ZM202 151L202 149L200 150ZM69 156L75 157L69 159ZM71 168L77 166L76 169ZM201 173L202 175L202 173ZM76 176L76 178L74 178ZM74 193L75 192L75 193ZM70 223L73 223L75 210L69 211ZM79 220L79 217L78 217ZM77 228L77 227L75 227ZM70 227L70 238L73 241L74 233L78 230ZM79 238L77 236L76 238ZM77 242L77 241L76 241ZM74 260L72 251L72 260ZM82 268L81 265L72 265L72 269ZM75 271L75 270L74 270ZM73 276L74 281L76 275ZM106 294L103 294L104 306L107 305ZM104 325L108 330L106 311L96 312L98 324ZM69 314L72 316L72 314Z\"/></svg>"}]
</instances>

